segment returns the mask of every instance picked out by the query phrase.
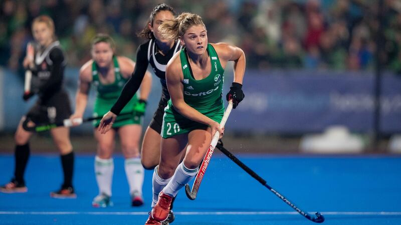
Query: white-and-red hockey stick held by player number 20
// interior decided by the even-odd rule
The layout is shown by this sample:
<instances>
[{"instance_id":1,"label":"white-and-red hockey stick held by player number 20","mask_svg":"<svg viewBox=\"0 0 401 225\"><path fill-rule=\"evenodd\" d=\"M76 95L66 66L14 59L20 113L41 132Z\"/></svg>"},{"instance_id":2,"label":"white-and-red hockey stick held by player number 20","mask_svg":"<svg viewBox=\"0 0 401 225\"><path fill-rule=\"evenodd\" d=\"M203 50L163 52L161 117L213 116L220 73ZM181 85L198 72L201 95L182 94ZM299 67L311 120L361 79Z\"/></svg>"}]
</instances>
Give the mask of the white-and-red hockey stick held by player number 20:
<instances>
[{"instance_id":1,"label":"white-and-red hockey stick held by player number 20","mask_svg":"<svg viewBox=\"0 0 401 225\"><path fill-rule=\"evenodd\" d=\"M220 127L224 127L226 124L226 121L230 115L231 109L233 109L233 100L229 101L229 105L226 108L226 111L224 112L222 121L220 122ZM197 191L199 190L200 182L202 182L202 179L204 178L205 171L208 168L209 161L212 158L213 151L215 150L215 146L217 144L217 141L219 140L220 133L216 131L215 135L213 136L212 142L210 143L209 149L205 154L204 160L202 164L199 167L199 171L197 172L197 175L195 177L195 181L193 182L192 189L190 189L188 184L185 184L185 192L186 196L194 200L196 198Z\"/></svg>"}]
</instances>

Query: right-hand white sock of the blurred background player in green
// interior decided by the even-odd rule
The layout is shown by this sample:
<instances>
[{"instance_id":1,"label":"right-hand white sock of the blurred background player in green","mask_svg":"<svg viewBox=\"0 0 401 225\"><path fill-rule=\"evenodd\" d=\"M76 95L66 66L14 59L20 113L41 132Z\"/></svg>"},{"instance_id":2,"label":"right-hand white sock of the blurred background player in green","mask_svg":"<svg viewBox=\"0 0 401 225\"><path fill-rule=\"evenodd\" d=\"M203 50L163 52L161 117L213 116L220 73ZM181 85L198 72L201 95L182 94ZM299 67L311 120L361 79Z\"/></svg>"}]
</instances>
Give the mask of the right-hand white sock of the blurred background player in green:
<instances>
[{"instance_id":1,"label":"right-hand white sock of the blurred background player in green","mask_svg":"<svg viewBox=\"0 0 401 225\"><path fill-rule=\"evenodd\" d=\"M132 195L135 193L142 195L144 169L141 164L141 159L139 157L126 158L124 167L129 184L129 194Z\"/></svg>"}]
</instances>

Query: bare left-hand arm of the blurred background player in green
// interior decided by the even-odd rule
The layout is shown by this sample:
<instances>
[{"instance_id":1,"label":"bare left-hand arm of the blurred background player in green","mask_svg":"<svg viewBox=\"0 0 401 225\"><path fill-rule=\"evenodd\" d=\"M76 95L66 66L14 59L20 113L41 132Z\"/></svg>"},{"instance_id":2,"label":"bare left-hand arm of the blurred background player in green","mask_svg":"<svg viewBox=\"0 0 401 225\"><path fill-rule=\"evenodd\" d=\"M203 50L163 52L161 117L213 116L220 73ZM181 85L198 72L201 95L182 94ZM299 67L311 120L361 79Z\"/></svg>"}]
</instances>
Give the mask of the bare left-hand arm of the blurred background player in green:
<instances>
[{"instance_id":1,"label":"bare left-hand arm of the blurred background player in green","mask_svg":"<svg viewBox=\"0 0 401 225\"><path fill-rule=\"evenodd\" d=\"M92 63L93 60L89 60L79 71L78 89L75 96L75 110L74 114L70 116L71 119L82 118L84 115L86 105L88 104L90 84L92 82Z\"/></svg>"}]
</instances>

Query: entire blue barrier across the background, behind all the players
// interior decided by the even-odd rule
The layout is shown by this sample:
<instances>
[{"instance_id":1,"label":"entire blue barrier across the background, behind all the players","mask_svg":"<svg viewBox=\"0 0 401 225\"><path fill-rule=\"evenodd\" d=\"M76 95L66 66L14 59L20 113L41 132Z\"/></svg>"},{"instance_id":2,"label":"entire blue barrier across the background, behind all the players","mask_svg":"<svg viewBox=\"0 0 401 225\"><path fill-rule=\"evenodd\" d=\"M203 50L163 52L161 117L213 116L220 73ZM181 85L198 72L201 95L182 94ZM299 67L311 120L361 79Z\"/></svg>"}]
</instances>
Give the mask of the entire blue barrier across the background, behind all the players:
<instances>
[{"instance_id":1,"label":"entire blue barrier across the background, behind all the players","mask_svg":"<svg viewBox=\"0 0 401 225\"><path fill-rule=\"evenodd\" d=\"M145 124L157 107L159 80L153 76ZM65 84L74 102L78 69L67 69ZM225 77L224 96L231 84L232 72ZM369 72L328 71L247 71L244 79L245 99L234 109L226 127L235 132L304 133L320 132L329 125L343 124L354 132L369 132L373 127L373 83ZM384 74L381 96L381 130L401 131L401 77ZM34 102L22 100L23 83L4 70L3 127L14 131L21 116ZM85 116L93 108L91 91ZM0 113L1 114L1 113ZM85 124L72 132L92 132Z\"/></svg>"}]
</instances>

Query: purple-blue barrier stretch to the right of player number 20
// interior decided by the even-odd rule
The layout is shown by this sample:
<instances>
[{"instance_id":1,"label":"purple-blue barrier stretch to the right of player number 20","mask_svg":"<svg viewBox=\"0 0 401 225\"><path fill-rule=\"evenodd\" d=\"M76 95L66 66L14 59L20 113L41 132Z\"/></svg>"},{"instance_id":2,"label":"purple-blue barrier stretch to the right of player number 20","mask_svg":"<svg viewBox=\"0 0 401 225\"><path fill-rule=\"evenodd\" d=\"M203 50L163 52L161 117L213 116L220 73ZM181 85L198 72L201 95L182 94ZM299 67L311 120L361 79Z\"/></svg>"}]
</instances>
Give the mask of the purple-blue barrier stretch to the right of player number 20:
<instances>
[{"instance_id":1,"label":"purple-blue barrier stretch to the right of player number 20","mask_svg":"<svg viewBox=\"0 0 401 225\"><path fill-rule=\"evenodd\" d=\"M320 132L342 124L354 132L373 127L372 73L248 71L246 98L233 113L230 129L254 132ZM401 130L401 77L384 74L381 130Z\"/></svg>"}]
</instances>

